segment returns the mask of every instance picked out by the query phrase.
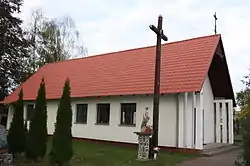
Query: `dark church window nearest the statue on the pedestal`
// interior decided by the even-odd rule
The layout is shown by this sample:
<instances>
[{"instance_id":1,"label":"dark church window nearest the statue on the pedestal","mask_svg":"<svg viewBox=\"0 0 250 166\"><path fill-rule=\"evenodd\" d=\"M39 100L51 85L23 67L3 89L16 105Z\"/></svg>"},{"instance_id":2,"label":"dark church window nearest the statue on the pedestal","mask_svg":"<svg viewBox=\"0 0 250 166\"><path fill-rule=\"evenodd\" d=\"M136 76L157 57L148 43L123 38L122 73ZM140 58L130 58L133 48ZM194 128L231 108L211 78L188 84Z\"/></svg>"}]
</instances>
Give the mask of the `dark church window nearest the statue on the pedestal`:
<instances>
[{"instance_id":1,"label":"dark church window nearest the statue on the pedestal","mask_svg":"<svg viewBox=\"0 0 250 166\"><path fill-rule=\"evenodd\" d=\"M136 103L121 104L121 124L135 125Z\"/></svg>"}]
</instances>

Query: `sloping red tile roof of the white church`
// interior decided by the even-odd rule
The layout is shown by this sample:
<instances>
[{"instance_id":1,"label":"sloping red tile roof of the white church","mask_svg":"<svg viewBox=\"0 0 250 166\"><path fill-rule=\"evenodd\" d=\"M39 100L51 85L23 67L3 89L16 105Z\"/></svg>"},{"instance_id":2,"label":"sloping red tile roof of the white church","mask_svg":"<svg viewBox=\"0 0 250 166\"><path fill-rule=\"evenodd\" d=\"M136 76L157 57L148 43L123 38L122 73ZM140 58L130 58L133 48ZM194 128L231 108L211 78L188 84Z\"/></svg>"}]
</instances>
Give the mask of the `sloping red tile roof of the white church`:
<instances>
[{"instance_id":1,"label":"sloping red tile roof of the white church","mask_svg":"<svg viewBox=\"0 0 250 166\"><path fill-rule=\"evenodd\" d=\"M162 45L161 93L200 91L220 35ZM42 77L47 99L60 98L70 79L72 97L152 94L155 46L47 64L22 84L24 100L35 100ZM18 98L20 87L4 103Z\"/></svg>"}]
</instances>

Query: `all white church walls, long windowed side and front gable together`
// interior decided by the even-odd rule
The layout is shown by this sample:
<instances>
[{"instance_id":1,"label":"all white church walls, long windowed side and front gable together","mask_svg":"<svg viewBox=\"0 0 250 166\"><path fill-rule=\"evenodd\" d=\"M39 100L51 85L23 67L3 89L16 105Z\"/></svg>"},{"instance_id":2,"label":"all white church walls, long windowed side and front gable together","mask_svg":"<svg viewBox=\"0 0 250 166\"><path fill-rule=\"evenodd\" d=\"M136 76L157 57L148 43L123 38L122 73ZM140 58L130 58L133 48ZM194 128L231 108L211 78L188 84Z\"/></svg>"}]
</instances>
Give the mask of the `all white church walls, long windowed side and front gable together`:
<instances>
[{"instance_id":1,"label":"all white church walls, long windowed side and front gable together","mask_svg":"<svg viewBox=\"0 0 250 166\"><path fill-rule=\"evenodd\" d=\"M204 104L204 140L205 143L214 142L214 109L213 109L213 94L208 77L206 77L203 86L202 100ZM187 110L184 110L184 93L180 94L179 101L179 127L177 134L177 96L163 95L160 97L160 113L159 113L159 145L181 148L194 148L194 126L193 126L193 93L187 93ZM110 125L96 125L96 104L100 102L110 103ZM135 102L137 103L136 110L136 126L120 126L120 103ZM87 124L75 124L76 104L88 104ZM29 103L26 103L29 104ZM32 103L34 104L34 103ZM197 103L199 104L199 103ZM48 133L53 134L54 123L56 122L58 102L48 101ZM117 97L102 97L72 99L73 124L72 134L74 137L82 137L89 139L101 139L110 141L137 143L137 136L134 134L140 131L140 125L145 107L149 107L149 124L152 125L153 117L153 96L117 96ZM26 105L24 110L26 110ZM198 110L197 110L198 111ZM184 124L184 113L186 115L186 123ZM12 120L13 110L10 108L8 113L7 128ZM26 111L24 112L26 117ZM185 131L186 130L186 131ZM177 145L178 136L178 145ZM197 140L196 140L197 141Z\"/></svg>"}]
</instances>

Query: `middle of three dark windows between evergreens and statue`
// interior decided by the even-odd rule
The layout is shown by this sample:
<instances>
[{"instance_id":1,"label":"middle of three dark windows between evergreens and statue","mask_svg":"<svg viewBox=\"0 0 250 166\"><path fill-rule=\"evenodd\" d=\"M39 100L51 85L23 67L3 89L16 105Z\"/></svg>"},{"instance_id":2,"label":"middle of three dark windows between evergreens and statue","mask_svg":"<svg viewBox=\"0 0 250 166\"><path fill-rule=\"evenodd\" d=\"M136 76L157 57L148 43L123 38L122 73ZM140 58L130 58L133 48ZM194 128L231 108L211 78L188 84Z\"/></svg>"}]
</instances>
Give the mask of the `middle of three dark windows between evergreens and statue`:
<instances>
[{"instance_id":1,"label":"middle of three dark windows between evergreens and statue","mask_svg":"<svg viewBox=\"0 0 250 166\"><path fill-rule=\"evenodd\" d=\"M97 124L109 124L110 104L97 104Z\"/></svg>"}]
</instances>

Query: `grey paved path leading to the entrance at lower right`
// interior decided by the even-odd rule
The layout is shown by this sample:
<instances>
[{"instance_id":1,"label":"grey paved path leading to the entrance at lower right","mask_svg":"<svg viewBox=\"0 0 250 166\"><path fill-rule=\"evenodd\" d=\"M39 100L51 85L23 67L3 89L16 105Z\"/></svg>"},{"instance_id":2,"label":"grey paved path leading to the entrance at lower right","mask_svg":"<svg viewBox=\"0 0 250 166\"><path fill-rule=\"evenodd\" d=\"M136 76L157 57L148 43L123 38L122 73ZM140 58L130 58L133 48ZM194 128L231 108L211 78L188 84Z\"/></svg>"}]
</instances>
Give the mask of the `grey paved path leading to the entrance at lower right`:
<instances>
[{"instance_id":1,"label":"grey paved path leading to the entrance at lower right","mask_svg":"<svg viewBox=\"0 0 250 166\"><path fill-rule=\"evenodd\" d=\"M212 157L200 157L185 161L178 166L235 166L234 161L240 150L233 150Z\"/></svg>"}]
</instances>

